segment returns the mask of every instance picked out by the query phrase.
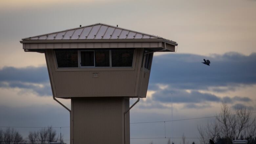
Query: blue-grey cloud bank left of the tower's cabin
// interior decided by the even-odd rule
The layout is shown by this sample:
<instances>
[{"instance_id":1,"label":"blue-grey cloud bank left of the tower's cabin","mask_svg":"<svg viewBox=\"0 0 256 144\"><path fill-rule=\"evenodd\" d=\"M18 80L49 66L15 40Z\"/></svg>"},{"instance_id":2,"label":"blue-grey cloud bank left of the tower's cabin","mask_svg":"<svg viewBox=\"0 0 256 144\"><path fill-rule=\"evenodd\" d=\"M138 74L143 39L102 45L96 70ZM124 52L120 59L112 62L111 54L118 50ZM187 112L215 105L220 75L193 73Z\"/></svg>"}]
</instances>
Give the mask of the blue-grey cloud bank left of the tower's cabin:
<instances>
[{"instance_id":1,"label":"blue-grey cloud bank left of the tower's cabin","mask_svg":"<svg viewBox=\"0 0 256 144\"><path fill-rule=\"evenodd\" d=\"M32 90L40 96L52 95L46 67L4 67L0 70L0 87Z\"/></svg>"}]
</instances>

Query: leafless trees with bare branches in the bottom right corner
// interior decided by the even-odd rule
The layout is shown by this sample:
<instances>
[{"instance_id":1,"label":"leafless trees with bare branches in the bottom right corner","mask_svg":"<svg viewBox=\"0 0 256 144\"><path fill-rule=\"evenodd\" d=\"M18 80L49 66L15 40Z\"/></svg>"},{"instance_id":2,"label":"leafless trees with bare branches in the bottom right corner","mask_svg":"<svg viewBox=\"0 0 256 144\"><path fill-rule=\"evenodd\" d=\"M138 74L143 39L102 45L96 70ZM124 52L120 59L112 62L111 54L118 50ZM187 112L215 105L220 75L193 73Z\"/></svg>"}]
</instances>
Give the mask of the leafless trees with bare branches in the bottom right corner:
<instances>
[{"instance_id":1,"label":"leafless trees with bare branches in the bottom right corner","mask_svg":"<svg viewBox=\"0 0 256 144\"><path fill-rule=\"evenodd\" d=\"M206 127L198 126L198 131L201 144L207 144L207 138L215 142L218 139L224 139L226 144L232 144L232 140L245 137L243 132L247 132L247 138L256 136L255 117L246 107L237 108L235 114L232 114L228 105L223 103L215 123L208 123Z\"/></svg>"}]
</instances>

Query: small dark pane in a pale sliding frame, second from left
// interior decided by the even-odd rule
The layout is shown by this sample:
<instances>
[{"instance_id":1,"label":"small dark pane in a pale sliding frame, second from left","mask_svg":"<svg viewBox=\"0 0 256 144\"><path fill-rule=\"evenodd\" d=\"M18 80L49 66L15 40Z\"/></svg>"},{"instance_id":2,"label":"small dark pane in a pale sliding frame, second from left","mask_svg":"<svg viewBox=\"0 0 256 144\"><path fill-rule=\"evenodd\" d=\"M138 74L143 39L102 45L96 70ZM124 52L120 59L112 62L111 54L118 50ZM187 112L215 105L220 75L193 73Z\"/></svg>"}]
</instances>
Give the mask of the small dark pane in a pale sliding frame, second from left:
<instances>
[{"instance_id":1,"label":"small dark pane in a pale sliding frame, second from left","mask_svg":"<svg viewBox=\"0 0 256 144\"><path fill-rule=\"evenodd\" d=\"M81 66L94 66L94 51L81 51Z\"/></svg>"}]
</instances>

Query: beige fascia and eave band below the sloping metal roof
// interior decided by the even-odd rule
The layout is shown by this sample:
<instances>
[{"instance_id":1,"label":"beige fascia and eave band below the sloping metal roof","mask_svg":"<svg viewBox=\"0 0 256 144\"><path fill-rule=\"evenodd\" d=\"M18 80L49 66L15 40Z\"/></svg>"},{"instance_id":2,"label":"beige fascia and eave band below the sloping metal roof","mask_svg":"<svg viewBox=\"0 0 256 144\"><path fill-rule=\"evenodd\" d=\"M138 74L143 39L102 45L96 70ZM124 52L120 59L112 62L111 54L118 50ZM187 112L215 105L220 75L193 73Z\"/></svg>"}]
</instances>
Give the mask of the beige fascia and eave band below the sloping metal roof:
<instances>
[{"instance_id":1,"label":"beige fascia and eave band below the sloping metal roof","mask_svg":"<svg viewBox=\"0 0 256 144\"><path fill-rule=\"evenodd\" d=\"M23 40L24 50L45 49L112 49L146 48L150 51L175 51L178 44L165 39L109 39L109 40Z\"/></svg>"}]
</instances>

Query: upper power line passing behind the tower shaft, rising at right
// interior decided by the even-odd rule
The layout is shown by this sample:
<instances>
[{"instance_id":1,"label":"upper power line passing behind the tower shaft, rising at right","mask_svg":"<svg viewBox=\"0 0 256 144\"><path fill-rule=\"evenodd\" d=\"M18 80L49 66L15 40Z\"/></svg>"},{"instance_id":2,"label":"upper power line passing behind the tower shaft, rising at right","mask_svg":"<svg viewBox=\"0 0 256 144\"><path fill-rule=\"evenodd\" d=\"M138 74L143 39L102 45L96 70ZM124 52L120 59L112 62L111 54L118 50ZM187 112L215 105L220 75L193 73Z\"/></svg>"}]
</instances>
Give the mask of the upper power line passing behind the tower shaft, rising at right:
<instances>
[{"instance_id":1,"label":"upper power line passing behind the tower shaft, rising at right","mask_svg":"<svg viewBox=\"0 0 256 144\"><path fill-rule=\"evenodd\" d=\"M256 112L250 112L250 113L256 113ZM241 113L241 114L249 114L249 113ZM238 115L238 114L216 115L216 116L206 116L206 117L197 117L197 118L176 119L176 120L167 120L167 121L134 122L134 123L130 123L130 124L171 122L171 121L193 120L193 119L213 118L213 117L232 116L232 115ZM70 127L7 127L7 126L0 126L0 128L70 128Z\"/></svg>"}]
</instances>

